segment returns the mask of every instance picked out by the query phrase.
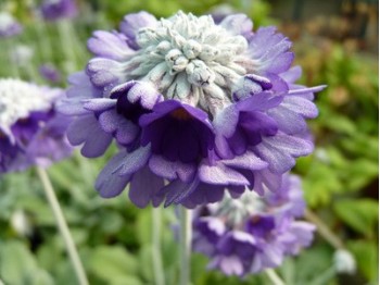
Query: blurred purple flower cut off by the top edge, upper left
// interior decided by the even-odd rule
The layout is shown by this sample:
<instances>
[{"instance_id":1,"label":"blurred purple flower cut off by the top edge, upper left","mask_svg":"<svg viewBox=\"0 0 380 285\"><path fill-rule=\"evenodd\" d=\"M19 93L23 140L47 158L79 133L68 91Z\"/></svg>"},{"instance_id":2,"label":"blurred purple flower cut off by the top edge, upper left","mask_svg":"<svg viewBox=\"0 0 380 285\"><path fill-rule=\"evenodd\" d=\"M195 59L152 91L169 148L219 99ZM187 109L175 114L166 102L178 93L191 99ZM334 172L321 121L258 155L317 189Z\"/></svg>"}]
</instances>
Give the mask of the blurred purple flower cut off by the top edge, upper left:
<instances>
[{"instance_id":1,"label":"blurred purple flower cut off by the top edge, upper left","mask_svg":"<svg viewBox=\"0 0 380 285\"><path fill-rule=\"evenodd\" d=\"M71 18L77 13L75 0L43 0L40 9L48 21Z\"/></svg>"}]
</instances>

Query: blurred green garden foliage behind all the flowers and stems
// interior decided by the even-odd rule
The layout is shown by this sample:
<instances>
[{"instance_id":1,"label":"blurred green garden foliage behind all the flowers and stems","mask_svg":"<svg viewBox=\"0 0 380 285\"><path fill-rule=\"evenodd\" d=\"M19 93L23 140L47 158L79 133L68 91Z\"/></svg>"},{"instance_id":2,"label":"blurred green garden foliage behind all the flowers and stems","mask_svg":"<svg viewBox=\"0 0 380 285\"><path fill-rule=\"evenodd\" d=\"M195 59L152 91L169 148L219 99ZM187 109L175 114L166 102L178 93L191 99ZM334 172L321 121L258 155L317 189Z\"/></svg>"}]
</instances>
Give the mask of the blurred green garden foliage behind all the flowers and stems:
<instances>
[{"instance_id":1,"label":"blurred green garden foliage behind all the flowers and stems","mask_svg":"<svg viewBox=\"0 0 380 285\"><path fill-rule=\"evenodd\" d=\"M145 10L168 16L177 10L204 14L244 12L255 24L277 25L293 40L302 83L327 84L318 94L320 110L311 122L316 151L300 159L309 209L355 256L352 275L331 271L334 248L316 234L313 246L278 270L288 285L378 284L378 1L365 0L92 0L77 1L71 21L43 23L33 0L1 0L0 10L25 26L12 39L0 39L0 77L13 66L24 79L49 84L38 73L53 64L65 77L85 67L86 40L96 29L116 28L123 15ZM11 53L26 47L29 52ZM18 48L17 48L18 47ZM24 49L25 50L25 49ZM25 55L26 54L26 55ZM24 58L23 58L24 57ZM20 58L22 60L20 60ZM151 267L151 210L134 207L124 194L101 199L94 178L112 156L88 160L78 153L48 170L69 223L91 284L154 284ZM64 245L34 170L0 177L0 278L5 284L76 284ZM177 244L170 227L174 209L164 211L162 244L166 283L178 278ZM206 271L206 258L194 255L192 282L208 284L270 284L264 275L246 280Z\"/></svg>"}]
</instances>

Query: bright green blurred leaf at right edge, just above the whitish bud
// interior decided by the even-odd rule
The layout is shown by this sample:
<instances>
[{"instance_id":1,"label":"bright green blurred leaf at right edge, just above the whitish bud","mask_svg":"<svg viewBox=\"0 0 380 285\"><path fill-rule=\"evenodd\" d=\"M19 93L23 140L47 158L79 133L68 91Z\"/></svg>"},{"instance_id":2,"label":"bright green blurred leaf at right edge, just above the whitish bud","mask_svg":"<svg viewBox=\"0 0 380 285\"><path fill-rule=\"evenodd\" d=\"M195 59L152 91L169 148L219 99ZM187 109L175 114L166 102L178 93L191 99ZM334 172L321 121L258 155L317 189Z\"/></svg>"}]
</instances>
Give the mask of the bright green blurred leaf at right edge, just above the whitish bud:
<instances>
[{"instance_id":1,"label":"bright green blurred leaf at right edge, just above the whitish bud","mask_svg":"<svg viewBox=\"0 0 380 285\"><path fill-rule=\"evenodd\" d=\"M341 200L333 205L338 216L353 230L367 237L375 235L375 225L379 216L378 202L371 199Z\"/></svg>"}]
</instances>

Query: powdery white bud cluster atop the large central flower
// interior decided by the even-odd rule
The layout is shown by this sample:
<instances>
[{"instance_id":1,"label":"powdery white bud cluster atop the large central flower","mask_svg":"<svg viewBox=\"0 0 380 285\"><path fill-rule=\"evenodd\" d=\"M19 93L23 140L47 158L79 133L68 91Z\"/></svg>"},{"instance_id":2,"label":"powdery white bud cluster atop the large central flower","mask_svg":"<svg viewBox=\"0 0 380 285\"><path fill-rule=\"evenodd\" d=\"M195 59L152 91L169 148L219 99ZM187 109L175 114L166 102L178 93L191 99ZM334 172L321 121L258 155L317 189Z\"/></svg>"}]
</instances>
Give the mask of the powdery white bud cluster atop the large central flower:
<instances>
[{"instance_id":1,"label":"powdery white bud cluster atop the large central flower","mask_svg":"<svg viewBox=\"0 0 380 285\"><path fill-rule=\"evenodd\" d=\"M141 47L125 65L127 79L149 82L166 99L211 113L231 101L231 89L246 74L248 41L207 16L178 12L137 34Z\"/></svg>"}]
</instances>

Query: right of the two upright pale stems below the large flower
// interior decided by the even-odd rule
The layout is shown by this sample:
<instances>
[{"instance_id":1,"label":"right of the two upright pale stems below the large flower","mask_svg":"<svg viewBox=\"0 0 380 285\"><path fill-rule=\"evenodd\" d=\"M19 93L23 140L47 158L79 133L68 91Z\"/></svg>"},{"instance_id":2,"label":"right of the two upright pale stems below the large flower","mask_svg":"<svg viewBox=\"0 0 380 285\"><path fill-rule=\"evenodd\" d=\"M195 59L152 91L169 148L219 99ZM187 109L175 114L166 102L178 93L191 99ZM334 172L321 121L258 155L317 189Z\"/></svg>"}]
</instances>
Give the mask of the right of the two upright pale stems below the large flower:
<instances>
[{"instance_id":1,"label":"right of the two upright pale stems below the large flower","mask_svg":"<svg viewBox=\"0 0 380 285\"><path fill-rule=\"evenodd\" d=\"M180 207L180 285L190 284L191 210Z\"/></svg>"}]
</instances>

